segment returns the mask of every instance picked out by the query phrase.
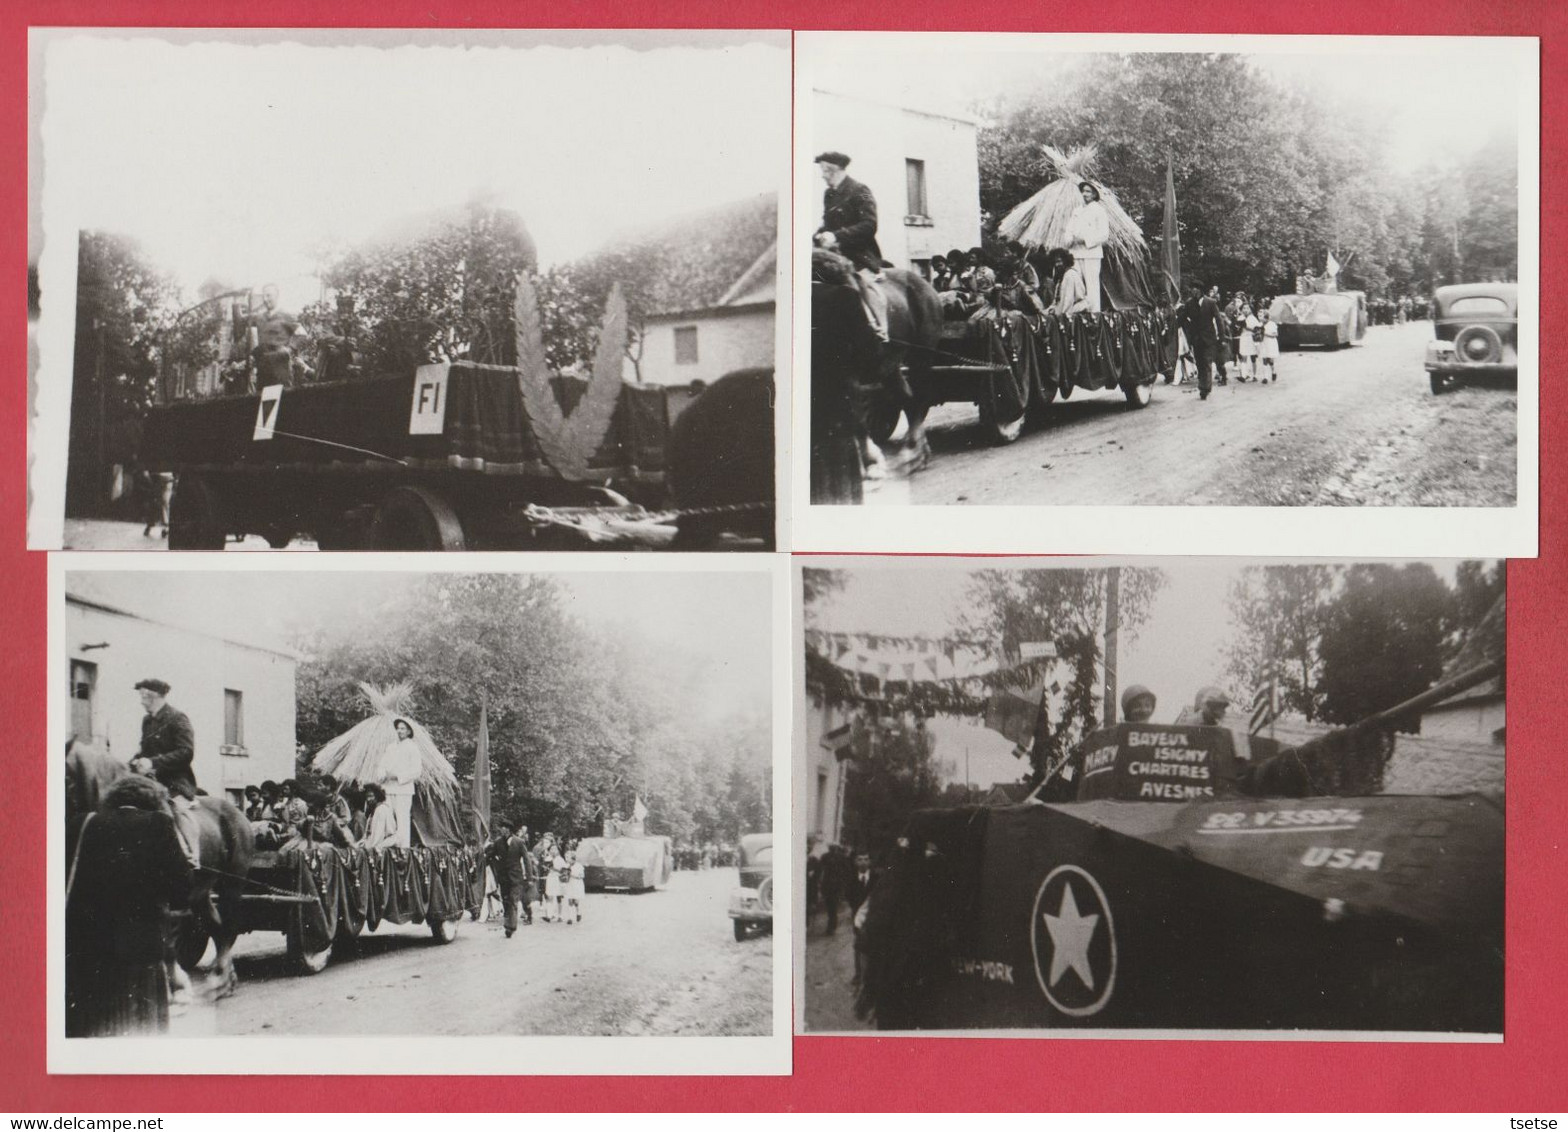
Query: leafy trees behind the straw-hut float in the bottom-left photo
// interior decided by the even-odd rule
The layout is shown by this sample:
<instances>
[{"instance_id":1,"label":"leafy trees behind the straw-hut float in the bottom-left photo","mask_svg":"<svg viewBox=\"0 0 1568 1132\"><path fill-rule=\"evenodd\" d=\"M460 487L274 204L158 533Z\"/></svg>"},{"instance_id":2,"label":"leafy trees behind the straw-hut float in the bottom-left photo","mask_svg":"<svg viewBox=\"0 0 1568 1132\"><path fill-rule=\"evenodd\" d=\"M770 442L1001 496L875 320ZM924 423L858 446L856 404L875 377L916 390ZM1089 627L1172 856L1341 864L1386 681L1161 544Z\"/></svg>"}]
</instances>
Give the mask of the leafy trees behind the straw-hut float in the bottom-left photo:
<instances>
[{"instance_id":1,"label":"leafy trees behind the straw-hut float in the bottom-left photo","mask_svg":"<svg viewBox=\"0 0 1568 1132\"><path fill-rule=\"evenodd\" d=\"M298 734L312 753L364 718L359 680L411 680L464 782L486 698L492 809L533 831L597 833L638 796L649 831L677 839L732 842L771 823L768 713L693 721L706 662L583 629L547 575L422 577L298 646Z\"/></svg>"}]
</instances>

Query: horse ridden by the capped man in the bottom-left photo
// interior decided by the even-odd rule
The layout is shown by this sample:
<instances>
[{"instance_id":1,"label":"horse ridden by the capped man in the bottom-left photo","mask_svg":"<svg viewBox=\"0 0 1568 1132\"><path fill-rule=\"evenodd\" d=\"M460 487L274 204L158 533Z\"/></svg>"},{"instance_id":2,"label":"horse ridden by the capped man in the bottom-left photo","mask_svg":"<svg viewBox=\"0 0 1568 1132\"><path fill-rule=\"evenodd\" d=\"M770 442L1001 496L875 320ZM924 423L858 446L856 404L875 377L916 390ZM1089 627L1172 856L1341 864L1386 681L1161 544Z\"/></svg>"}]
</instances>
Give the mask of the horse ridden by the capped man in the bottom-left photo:
<instances>
[{"instance_id":1,"label":"horse ridden by the capped man in the bottom-left photo","mask_svg":"<svg viewBox=\"0 0 1568 1132\"><path fill-rule=\"evenodd\" d=\"M99 807L103 793L130 770L107 754L85 743L72 743L66 754L66 869L75 861L77 840L88 815ZM177 939L176 958L185 972L196 969L210 939L216 945L213 977L216 997L234 992L237 977L230 955L240 938L240 898L245 892L245 876L251 870L256 839L245 814L227 798L199 795L196 798L196 826L201 831L201 869L196 872L187 903L185 917ZM210 898L216 895L216 900ZM216 905L218 923L212 922ZM171 972L172 974L172 972ZM176 975L176 981L179 977Z\"/></svg>"}]
</instances>

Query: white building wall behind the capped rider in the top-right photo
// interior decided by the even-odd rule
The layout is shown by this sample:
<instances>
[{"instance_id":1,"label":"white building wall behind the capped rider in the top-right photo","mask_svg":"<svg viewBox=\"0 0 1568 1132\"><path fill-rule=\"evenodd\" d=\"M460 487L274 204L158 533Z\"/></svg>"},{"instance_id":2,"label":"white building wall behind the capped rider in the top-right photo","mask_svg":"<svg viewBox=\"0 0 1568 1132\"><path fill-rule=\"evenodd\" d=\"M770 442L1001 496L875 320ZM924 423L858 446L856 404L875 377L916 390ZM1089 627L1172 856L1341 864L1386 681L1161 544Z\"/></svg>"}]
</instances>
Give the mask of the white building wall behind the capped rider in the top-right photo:
<instances>
[{"instance_id":1,"label":"white building wall behind the capped rider in the top-right photo","mask_svg":"<svg viewBox=\"0 0 1568 1132\"><path fill-rule=\"evenodd\" d=\"M975 122L883 105L847 94L817 91L815 152L837 149L850 157L850 176L877 196L877 243L897 267L928 260L950 248L980 243L980 157ZM905 161L925 161L930 224L908 216ZM808 210L812 230L822 224L822 191Z\"/></svg>"}]
</instances>

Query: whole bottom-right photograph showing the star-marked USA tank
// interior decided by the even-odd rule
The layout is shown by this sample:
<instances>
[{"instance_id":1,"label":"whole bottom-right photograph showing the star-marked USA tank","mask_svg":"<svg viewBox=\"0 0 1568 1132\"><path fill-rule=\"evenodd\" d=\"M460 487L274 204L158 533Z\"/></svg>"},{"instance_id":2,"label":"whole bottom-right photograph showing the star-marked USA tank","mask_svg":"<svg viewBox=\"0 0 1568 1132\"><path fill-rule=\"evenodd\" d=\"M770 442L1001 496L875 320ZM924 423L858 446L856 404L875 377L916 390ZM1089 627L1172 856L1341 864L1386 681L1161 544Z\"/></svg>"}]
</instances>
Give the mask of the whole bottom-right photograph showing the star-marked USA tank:
<instances>
[{"instance_id":1,"label":"whole bottom-right photograph showing the star-marked USA tank","mask_svg":"<svg viewBox=\"0 0 1568 1132\"><path fill-rule=\"evenodd\" d=\"M1502 561L818 561L804 1032L1501 1041Z\"/></svg>"}]
</instances>

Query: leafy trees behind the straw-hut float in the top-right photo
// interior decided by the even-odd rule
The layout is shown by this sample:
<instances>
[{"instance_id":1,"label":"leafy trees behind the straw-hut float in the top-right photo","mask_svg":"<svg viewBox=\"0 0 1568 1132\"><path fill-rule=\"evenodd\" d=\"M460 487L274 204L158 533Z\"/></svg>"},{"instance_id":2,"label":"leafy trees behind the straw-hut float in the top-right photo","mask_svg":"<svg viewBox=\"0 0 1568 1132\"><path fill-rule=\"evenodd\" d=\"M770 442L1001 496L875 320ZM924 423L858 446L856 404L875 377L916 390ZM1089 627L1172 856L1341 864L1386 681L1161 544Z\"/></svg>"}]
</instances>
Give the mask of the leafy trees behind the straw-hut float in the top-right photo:
<instances>
[{"instance_id":1,"label":"leafy trees behind the straw-hut float in the top-right photo","mask_svg":"<svg viewBox=\"0 0 1568 1132\"><path fill-rule=\"evenodd\" d=\"M1157 251L1168 158L1184 274L1223 290L1292 290L1325 251L1344 287L1385 293L1518 270L1512 140L1410 176L1352 96L1286 86L1239 55L1090 55L980 116L980 196L999 216L1047 182L1044 144L1093 143Z\"/></svg>"}]
</instances>

